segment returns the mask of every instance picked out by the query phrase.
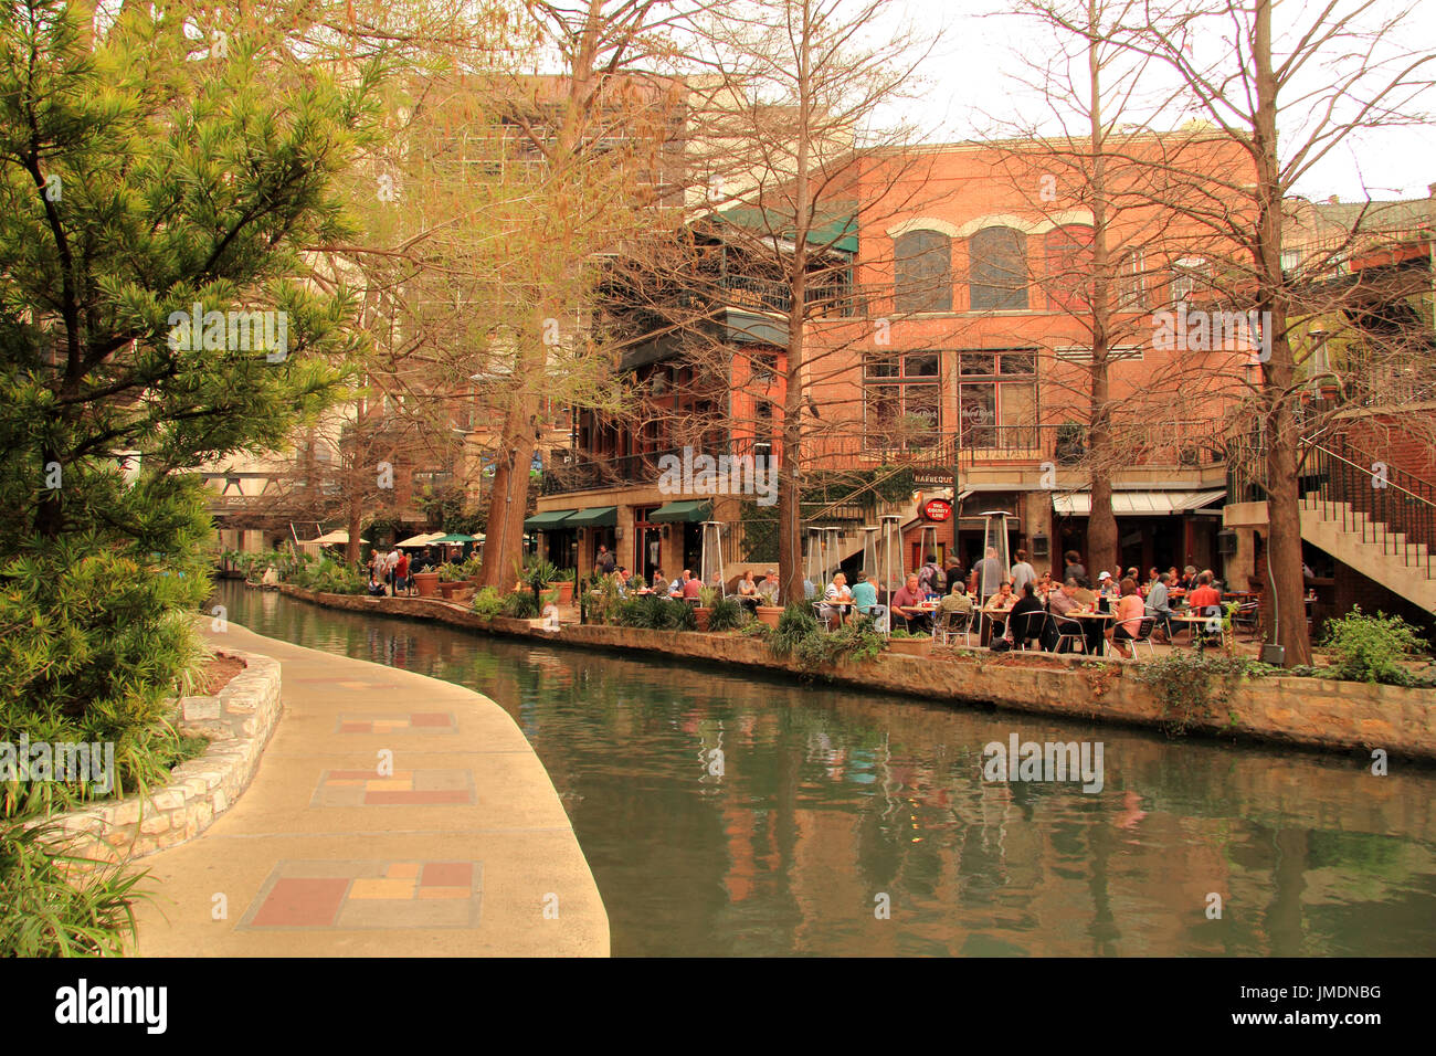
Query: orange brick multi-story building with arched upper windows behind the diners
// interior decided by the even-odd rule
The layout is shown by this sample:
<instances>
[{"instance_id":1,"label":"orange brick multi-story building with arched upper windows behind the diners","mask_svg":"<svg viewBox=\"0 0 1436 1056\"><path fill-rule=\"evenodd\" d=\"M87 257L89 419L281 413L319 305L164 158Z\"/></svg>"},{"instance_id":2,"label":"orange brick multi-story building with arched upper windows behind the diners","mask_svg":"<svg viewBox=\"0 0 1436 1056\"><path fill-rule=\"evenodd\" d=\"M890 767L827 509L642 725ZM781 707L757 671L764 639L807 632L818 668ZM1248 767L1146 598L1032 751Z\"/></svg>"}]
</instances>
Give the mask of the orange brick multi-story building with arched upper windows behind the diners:
<instances>
[{"instance_id":1,"label":"orange brick multi-story building with arched upper windows behind the diners","mask_svg":"<svg viewBox=\"0 0 1436 1056\"><path fill-rule=\"evenodd\" d=\"M1173 136L1195 168L1238 164L1234 152L1193 149L1190 139ZM1129 148L1157 155L1172 144L1153 136ZM1110 474L1116 490L1124 563L1215 563L1225 494L1215 392L1226 386L1203 378L1245 369L1252 348L1160 348L1157 313L1202 303L1205 261L1193 246L1200 247L1203 233L1183 228L1160 201L1127 207L1109 231L1124 254L1109 352L1119 458L1093 467L1093 216L1080 195L1063 203L1040 193L1051 149L958 144L903 151L896 159L860 157L841 184L843 205L834 201L827 223L810 236L814 273L827 284L804 319L798 461L808 481L834 474L852 481L853 494L844 501L829 488L826 501L806 504L803 514L807 527L843 530L839 557L860 552L864 523L896 513L909 568L923 527L936 527L941 557L955 549L971 562L982 543L981 514L1001 509L1012 514L1012 549L1025 546L1040 566L1060 565L1063 550L1086 549L1087 481L1096 468ZM920 174L916 191L913 174ZM771 547L760 552L760 540L745 530L752 524L744 523L750 519L741 507L754 503L751 494L673 494L659 487L653 458L681 447L673 425L694 420L705 428L685 443L699 453L744 454L748 444L777 450L788 287L764 282L761 267L757 276L729 277L729 299L714 302L740 320L729 326L727 372L699 376L699 361L672 342L669 356L625 359L636 378L653 378L668 425L656 415L579 417L574 470L546 476L530 527L550 540L572 530L563 555L580 568L602 542L635 570L648 570L655 555L665 573L696 569L695 522L708 519L728 524L729 572L732 562L773 562ZM1163 378L1173 382L1169 391L1156 388ZM896 467L915 473L920 494L883 501L864 490ZM925 522L915 500L951 499L954 486L955 520Z\"/></svg>"}]
</instances>

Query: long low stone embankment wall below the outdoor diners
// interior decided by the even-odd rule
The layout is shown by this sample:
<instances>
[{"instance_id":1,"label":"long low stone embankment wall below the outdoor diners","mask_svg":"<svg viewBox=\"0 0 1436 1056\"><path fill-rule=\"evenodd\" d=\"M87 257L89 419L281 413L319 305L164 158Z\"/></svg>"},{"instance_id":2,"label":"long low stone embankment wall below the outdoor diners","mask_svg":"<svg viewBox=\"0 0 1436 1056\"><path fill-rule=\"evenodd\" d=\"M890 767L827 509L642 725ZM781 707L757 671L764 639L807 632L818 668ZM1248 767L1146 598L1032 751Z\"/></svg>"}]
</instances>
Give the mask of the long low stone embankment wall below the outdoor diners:
<instances>
[{"instance_id":1,"label":"long low stone embankment wall below the outdoor diners","mask_svg":"<svg viewBox=\"0 0 1436 1056\"><path fill-rule=\"evenodd\" d=\"M449 626L526 638L584 649L625 649L760 668L773 674L814 678L793 661L768 652L757 638L698 631L566 625L543 631L538 621L485 618L437 598L368 598L306 590L281 583L292 598L332 609L435 619ZM1384 750L1389 757L1436 761L1436 693L1399 685L1367 685L1324 678L1242 678L1213 714L1208 705L1186 715L1167 714L1155 690L1130 674L1140 661L1086 659L1043 654L971 654L933 649L928 657L883 652L876 659L841 664L817 675L823 681L916 698L923 703L989 705L1007 711L1060 715L1159 730L1249 738L1321 751ZM913 687L922 687L915 693ZM1211 690L1222 691L1216 680ZM1206 700L1211 701L1208 695Z\"/></svg>"}]
</instances>

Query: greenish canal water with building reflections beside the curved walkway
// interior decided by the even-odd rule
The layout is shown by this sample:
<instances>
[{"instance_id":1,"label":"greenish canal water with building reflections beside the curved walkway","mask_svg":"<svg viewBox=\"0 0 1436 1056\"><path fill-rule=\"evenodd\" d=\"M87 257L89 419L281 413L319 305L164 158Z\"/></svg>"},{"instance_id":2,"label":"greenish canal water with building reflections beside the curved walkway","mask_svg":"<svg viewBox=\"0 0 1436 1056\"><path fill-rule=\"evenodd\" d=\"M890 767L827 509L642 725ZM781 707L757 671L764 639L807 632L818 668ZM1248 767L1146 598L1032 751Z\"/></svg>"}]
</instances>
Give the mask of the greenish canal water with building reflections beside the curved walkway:
<instances>
[{"instance_id":1,"label":"greenish canal water with building reflections beside the curved walkway","mask_svg":"<svg viewBox=\"0 0 1436 1056\"><path fill-rule=\"evenodd\" d=\"M1436 954L1436 770L546 648L234 580L217 603L498 701L563 797L615 955ZM1101 790L987 780L984 747L1012 734L1100 744Z\"/></svg>"}]
</instances>

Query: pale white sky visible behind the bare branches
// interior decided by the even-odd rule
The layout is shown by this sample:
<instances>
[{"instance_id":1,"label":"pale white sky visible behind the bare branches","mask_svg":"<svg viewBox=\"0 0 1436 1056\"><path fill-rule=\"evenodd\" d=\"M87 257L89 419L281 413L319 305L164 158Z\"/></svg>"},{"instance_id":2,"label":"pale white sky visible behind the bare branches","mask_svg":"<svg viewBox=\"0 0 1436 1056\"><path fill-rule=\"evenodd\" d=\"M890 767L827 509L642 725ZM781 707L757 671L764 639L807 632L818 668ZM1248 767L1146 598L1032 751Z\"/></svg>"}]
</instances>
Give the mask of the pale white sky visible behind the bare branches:
<instances>
[{"instance_id":1,"label":"pale white sky visible behind the bare branches","mask_svg":"<svg viewBox=\"0 0 1436 1056\"><path fill-rule=\"evenodd\" d=\"M1351 0L1338 0L1350 9ZM936 141L981 138L992 118L1043 119L1047 103L1027 92L1011 76L1020 69L1015 55L1045 57L1057 53L1044 30L1031 20L1007 13L992 13L1005 3L995 0L887 0L895 23L912 20L923 30L946 27L946 39L923 65L925 88L918 98L900 103L900 115L922 125L925 136ZM1308 0L1284 0L1275 9L1278 52L1282 16L1311 11ZM1377 9L1394 13L1413 6L1412 0L1377 0ZM1436 53L1436 0L1416 0L1409 32L1400 45ZM880 32L880 30L879 30ZM890 34L890 30L889 30ZM1215 47L1219 40L1203 42ZM1213 57L1222 52L1213 50ZM1279 57L1279 56L1278 56ZM1331 76L1313 70L1320 83L1331 83ZM1436 79L1436 63L1426 72ZM1157 78L1147 82L1156 83ZM1307 91L1313 91L1308 85ZM1294 102L1294 101L1292 101ZM1436 93L1422 103L1427 114L1436 111ZM896 108L895 108L896 112ZM1310 108L1305 111L1310 114ZM1292 106L1282 115L1281 135L1295 142L1301 136L1302 108ZM1179 124L1176 121L1172 122ZM1436 182L1436 126L1381 128L1363 131L1348 139L1298 184L1297 190L1311 198L1324 200L1333 194L1343 201L1363 201L1369 195L1381 198L1417 198L1427 195L1427 184Z\"/></svg>"}]
</instances>

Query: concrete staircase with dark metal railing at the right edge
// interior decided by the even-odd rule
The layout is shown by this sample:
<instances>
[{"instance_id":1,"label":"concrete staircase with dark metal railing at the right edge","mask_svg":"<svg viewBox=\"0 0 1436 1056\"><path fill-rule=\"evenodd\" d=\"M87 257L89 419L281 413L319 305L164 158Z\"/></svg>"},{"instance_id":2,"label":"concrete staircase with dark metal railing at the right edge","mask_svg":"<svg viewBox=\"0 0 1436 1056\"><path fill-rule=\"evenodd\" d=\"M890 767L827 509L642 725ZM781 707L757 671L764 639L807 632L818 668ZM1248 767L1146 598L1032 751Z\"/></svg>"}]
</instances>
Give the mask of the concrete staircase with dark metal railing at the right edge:
<instances>
[{"instance_id":1,"label":"concrete staircase with dark metal railing at the right edge","mask_svg":"<svg viewBox=\"0 0 1436 1056\"><path fill-rule=\"evenodd\" d=\"M1425 542L1357 510L1308 491L1301 500L1301 537L1367 579L1427 612L1436 612L1436 560Z\"/></svg>"}]
</instances>

